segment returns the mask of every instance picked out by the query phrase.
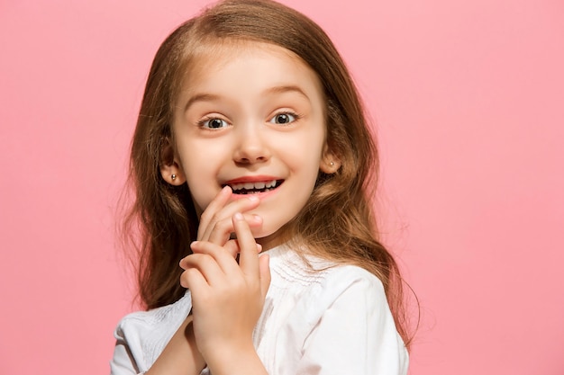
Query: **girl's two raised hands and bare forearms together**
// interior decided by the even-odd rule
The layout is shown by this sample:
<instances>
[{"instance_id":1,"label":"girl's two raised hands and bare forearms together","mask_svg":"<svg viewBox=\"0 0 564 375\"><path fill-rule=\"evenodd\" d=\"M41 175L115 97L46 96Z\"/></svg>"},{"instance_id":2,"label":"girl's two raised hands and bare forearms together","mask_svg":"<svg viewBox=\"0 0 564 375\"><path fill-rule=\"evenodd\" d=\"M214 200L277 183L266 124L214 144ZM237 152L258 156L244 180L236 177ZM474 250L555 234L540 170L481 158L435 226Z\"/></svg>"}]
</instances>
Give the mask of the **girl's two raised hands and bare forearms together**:
<instances>
[{"instance_id":1,"label":"girl's two raised hands and bare forearms together","mask_svg":"<svg viewBox=\"0 0 564 375\"><path fill-rule=\"evenodd\" d=\"M181 284L192 291L192 314L178 328L148 375L199 374L206 364L220 375L267 374L254 350L252 329L270 283L268 254L258 256L261 246L241 214L256 208L259 201L229 201L231 195L231 189L224 188L207 210L213 213L209 217L216 219L234 212L231 230L238 239L223 241L230 229L216 225L214 219L200 222L198 241L191 244L195 254L180 263L186 270ZM215 230L208 230L210 226ZM236 254L240 254L239 263L235 261ZM210 315L210 310L216 314Z\"/></svg>"}]
</instances>

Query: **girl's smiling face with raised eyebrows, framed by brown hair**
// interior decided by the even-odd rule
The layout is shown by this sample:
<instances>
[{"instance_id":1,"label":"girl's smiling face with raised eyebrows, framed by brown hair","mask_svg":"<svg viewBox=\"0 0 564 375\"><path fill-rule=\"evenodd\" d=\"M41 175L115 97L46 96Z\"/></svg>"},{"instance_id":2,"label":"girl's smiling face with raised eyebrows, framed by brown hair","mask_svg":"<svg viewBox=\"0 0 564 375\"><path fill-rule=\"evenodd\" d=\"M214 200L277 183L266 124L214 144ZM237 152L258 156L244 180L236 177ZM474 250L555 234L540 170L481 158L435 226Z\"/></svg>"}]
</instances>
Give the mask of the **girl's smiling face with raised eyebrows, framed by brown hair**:
<instances>
[{"instance_id":1,"label":"girl's smiling face with raised eyebrows, framed by brown hair","mask_svg":"<svg viewBox=\"0 0 564 375\"><path fill-rule=\"evenodd\" d=\"M321 168L332 172L325 143L323 89L292 52L258 42L232 43L196 58L176 103L178 177L201 214L225 185L232 199L260 204L253 235L277 245L282 226L305 206Z\"/></svg>"}]
</instances>

